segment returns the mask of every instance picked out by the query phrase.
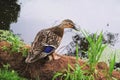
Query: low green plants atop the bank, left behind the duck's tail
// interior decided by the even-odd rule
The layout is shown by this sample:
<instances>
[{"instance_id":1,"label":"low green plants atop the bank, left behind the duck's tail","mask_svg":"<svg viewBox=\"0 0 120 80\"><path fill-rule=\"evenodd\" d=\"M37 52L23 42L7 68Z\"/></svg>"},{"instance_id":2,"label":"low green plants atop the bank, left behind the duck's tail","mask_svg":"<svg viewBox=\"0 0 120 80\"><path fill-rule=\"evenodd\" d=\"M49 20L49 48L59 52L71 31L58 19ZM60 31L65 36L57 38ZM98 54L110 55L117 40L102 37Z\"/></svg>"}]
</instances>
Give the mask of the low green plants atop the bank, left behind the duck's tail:
<instances>
[{"instance_id":1,"label":"low green plants atop the bank, left behind the duck's tail","mask_svg":"<svg viewBox=\"0 0 120 80\"><path fill-rule=\"evenodd\" d=\"M24 47L25 44L21 41L20 37L10 31L0 30L0 41L7 41L10 43L11 53L22 52L23 56L25 56L28 52L28 49ZM2 49L8 51L6 46L3 46Z\"/></svg>"}]
</instances>

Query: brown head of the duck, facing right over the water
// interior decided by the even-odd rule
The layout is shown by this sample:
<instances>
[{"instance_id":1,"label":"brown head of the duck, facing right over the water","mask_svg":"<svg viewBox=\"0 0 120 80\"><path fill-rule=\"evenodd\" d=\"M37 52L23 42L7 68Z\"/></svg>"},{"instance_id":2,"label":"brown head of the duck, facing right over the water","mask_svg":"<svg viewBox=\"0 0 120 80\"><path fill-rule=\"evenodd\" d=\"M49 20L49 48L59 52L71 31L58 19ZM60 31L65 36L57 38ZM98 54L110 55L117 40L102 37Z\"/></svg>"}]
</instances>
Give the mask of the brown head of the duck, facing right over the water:
<instances>
[{"instance_id":1,"label":"brown head of the duck, facing right over the water","mask_svg":"<svg viewBox=\"0 0 120 80\"><path fill-rule=\"evenodd\" d=\"M60 24L60 27L63 29L64 28L72 28L74 30L77 30L77 28L75 27L75 23L70 19L63 20Z\"/></svg>"}]
</instances>

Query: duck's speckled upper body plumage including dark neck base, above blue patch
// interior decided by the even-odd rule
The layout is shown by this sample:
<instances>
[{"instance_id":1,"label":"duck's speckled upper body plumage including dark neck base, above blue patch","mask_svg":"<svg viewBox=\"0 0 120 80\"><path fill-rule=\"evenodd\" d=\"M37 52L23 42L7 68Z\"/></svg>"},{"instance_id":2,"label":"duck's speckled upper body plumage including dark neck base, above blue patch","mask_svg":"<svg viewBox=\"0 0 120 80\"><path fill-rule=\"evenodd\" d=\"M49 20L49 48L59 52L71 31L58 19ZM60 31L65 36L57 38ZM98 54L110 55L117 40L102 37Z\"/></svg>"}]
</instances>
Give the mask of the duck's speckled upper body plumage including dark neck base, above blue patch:
<instances>
[{"instance_id":1,"label":"duck's speckled upper body plumage including dark neck base, above blue patch","mask_svg":"<svg viewBox=\"0 0 120 80\"><path fill-rule=\"evenodd\" d=\"M44 44L54 45L57 48L61 42L62 36L63 30L59 27L43 29L36 35L35 40L32 43L31 50L40 50L42 52Z\"/></svg>"}]
</instances>

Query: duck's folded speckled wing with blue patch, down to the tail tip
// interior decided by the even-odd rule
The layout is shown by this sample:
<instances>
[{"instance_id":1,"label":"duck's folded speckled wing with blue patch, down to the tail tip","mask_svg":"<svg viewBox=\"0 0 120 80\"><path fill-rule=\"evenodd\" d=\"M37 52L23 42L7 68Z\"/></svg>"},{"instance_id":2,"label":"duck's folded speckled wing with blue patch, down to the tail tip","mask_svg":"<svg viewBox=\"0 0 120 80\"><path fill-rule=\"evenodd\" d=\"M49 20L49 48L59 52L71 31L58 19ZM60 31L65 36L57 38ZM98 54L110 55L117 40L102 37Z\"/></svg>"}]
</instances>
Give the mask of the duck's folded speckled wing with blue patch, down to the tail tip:
<instances>
[{"instance_id":1,"label":"duck's folded speckled wing with blue patch, down to the tail tip","mask_svg":"<svg viewBox=\"0 0 120 80\"><path fill-rule=\"evenodd\" d=\"M59 37L51 30L41 30L31 45L31 53L28 54L26 62L31 63L46 57L55 51L59 43Z\"/></svg>"}]
</instances>

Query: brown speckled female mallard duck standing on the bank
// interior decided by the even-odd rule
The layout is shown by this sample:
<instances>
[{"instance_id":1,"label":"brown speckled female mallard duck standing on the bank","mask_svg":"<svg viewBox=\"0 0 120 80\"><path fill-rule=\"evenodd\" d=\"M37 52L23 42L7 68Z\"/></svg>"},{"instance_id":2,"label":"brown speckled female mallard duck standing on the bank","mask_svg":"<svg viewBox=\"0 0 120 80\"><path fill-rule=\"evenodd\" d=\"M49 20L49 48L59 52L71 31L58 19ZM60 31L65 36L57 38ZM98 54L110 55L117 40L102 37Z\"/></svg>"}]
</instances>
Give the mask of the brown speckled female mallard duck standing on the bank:
<instances>
[{"instance_id":1,"label":"brown speckled female mallard duck standing on the bank","mask_svg":"<svg viewBox=\"0 0 120 80\"><path fill-rule=\"evenodd\" d=\"M43 29L38 32L31 45L30 53L25 60L26 63L33 63L41 58L45 58L48 55L52 55L53 59L57 59L58 56L53 53L60 45L64 34L64 28L76 29L73 21L66 19L58 26Z\"/></svg>"}]
</instances>

